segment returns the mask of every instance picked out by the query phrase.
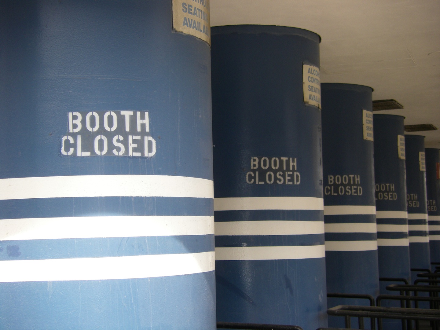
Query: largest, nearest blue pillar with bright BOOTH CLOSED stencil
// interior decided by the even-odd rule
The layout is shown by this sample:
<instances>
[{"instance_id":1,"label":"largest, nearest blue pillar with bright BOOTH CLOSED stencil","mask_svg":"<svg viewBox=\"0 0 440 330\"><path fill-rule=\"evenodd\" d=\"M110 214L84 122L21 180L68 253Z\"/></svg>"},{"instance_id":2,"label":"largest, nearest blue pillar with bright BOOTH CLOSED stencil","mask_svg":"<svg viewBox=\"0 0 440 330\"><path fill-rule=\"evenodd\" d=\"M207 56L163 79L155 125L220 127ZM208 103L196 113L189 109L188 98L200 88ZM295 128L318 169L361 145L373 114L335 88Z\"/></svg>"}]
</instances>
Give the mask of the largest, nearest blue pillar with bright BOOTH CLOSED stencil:
<instances>
[{"instance_id":1,"label":"largest, nearest blue pillar with bright BOOTH CLOSED stencil","mask_svg":"<svg viewBox=\"0 0 440 330\"><path fill-rule=\"evenodd\" d=\"M182 9L0 2L1 329L215 329L210 48Z\"/></svg>"}]
</instances>

